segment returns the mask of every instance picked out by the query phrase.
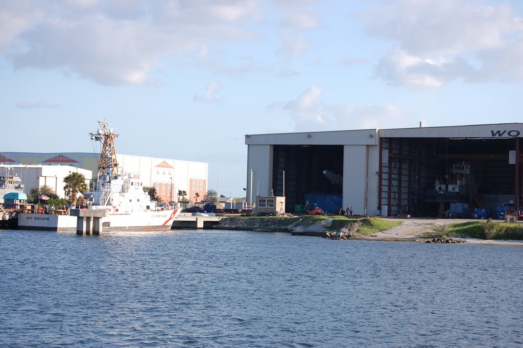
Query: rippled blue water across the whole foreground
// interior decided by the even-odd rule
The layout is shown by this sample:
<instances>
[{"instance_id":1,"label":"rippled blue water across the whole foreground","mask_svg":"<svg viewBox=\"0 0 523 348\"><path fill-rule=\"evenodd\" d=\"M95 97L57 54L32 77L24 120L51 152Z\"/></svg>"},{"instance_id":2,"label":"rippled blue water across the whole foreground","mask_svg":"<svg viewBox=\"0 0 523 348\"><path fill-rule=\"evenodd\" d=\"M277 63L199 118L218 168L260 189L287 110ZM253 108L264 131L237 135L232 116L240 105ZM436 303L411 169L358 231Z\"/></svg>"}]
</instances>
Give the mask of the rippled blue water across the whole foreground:
<instances>
[{"instance_id":1,"label":"rippled blue water across the whole foreground","mask_svg":"<svg viewBox=\"0 0 523 348\"><path fill-rule=\"evenodd\" d=\"M0 346L523 345L523 248L0 231Z\"/></svg>"}]
</instances>

